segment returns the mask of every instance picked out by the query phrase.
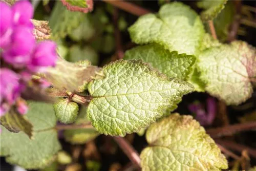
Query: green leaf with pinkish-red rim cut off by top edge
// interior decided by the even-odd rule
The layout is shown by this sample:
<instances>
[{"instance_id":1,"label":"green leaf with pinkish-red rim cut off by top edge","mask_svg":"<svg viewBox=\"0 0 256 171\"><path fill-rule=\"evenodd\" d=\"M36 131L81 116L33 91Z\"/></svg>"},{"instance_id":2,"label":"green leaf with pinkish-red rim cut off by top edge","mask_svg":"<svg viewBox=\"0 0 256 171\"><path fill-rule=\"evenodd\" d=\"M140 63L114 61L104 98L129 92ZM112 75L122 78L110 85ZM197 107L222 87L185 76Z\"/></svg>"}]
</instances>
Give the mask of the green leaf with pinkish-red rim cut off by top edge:
<instances>
[{"instance_id":1,"label":"green leaf with pinkish-red rim cut off by top edge","mask_svg":"<svg viewBox=\"0 0 256 171\"><path fill-rule=\"evenodd\" d=\"M93 0L61 0L70 11L88 13L93 10Z\"/></svg>"}]
</instances>

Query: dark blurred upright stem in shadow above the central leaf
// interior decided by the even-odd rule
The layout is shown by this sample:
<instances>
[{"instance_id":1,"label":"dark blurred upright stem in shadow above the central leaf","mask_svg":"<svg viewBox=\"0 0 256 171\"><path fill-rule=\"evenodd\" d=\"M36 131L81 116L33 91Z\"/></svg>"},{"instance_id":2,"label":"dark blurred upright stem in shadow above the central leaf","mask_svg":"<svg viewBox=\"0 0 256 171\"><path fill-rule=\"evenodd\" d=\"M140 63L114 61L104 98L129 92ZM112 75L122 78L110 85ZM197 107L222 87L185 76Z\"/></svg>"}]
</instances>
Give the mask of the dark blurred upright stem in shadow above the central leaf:
<instances>
[{"instance_id":1,"label":"dark blurred upright stem in shadow above the central leaf","mask_svg":"<svg viewBox=\"0 0 256 171\"><path fill-rule=\"evenodd\" d=\"M119 10L118 8L114 7L114 14L113 14L113 23L115 29L115 43L116 43L116 55L118 59L123 58L123 47L122 47L122 40L121 40L121 33L118 28L118 17L119 17Z\"/></svg>"}]
</instances>

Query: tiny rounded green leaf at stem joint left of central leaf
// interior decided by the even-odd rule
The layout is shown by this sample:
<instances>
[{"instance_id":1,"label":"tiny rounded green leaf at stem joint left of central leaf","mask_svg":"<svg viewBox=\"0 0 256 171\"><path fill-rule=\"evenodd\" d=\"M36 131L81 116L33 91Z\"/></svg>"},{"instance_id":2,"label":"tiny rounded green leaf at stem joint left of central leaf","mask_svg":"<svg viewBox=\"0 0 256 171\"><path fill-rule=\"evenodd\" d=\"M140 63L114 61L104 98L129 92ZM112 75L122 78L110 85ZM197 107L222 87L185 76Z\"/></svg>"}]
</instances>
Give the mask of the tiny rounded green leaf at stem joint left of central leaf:
<instances>
[{"instance_id":1,"label":"tiny rounded green leaf at stem joint left of central leaf","mask_svg":"<svg viewBox=\"0 0 256 171\"><path fill-rule=\"evenodd\" d=\"M79 106L69 99L59 98L53 105L57 119L62 123L73 123L78 115Z\"/></svg>"}]
</instances>

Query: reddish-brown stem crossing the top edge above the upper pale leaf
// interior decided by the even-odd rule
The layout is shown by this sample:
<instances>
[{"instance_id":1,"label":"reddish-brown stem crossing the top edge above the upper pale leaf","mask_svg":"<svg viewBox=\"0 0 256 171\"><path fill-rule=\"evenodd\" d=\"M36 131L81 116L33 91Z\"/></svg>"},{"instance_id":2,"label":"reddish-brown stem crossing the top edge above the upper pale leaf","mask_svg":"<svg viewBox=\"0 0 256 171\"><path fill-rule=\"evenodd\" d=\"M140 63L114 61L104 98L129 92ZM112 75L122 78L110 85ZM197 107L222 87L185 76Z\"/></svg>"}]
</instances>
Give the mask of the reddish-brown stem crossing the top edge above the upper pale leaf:
<instances>
[{"instance_id":1,"label":"reddish-brown stem crossing the top edge above the upper pale leaf","mask_svg":"<svg viewBox=\"0 0 256 171\"><path fill-rule=\"evenodd\" d=\"M123 0L103 0L106 3L109 3L117 8L120 8L126 12L129 12L131 14L134 14L136 16L145 15L147 13L150 13L151 11L146 10L142 7L139 7L135 4L132 4L130 2L126 2Z\"/></svg>"}]
</instances>

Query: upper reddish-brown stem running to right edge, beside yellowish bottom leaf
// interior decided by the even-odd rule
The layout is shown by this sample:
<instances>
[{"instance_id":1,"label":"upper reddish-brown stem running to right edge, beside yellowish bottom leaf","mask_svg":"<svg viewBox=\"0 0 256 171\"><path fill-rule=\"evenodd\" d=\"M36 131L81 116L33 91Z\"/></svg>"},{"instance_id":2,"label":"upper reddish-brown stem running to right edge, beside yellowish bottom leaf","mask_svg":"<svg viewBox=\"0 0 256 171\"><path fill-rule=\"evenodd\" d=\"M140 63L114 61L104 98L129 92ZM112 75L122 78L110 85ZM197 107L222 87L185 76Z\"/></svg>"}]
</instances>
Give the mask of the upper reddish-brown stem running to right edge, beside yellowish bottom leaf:
<instances>
[{"instance_id":1,"label":"upper reddish-brown stem running to right edge, beside yellowish bottom leaf","mask_svg":"<svg viewBox=\"0 0 256 171\"><path fill-rule=\"evenodd\" d=\"M232 134L234 134L236 132L240 132L240 131L250 131L252 129L256 129L256 121L228 125L228 126L224 126L224 127L217 127L215 129L208 129L208 130L206 130L206 132L212 138L218 138L218 137L222 137L222 136L232 135Z\"/></svg>"}]
</instances>

